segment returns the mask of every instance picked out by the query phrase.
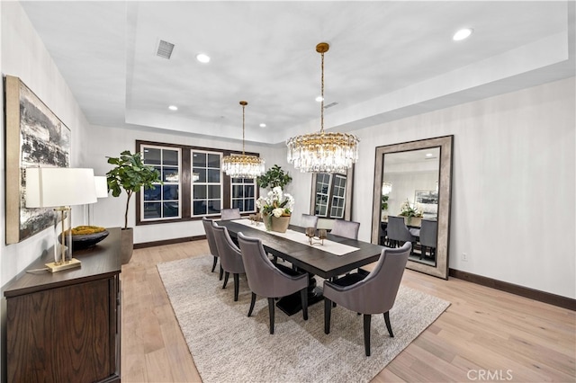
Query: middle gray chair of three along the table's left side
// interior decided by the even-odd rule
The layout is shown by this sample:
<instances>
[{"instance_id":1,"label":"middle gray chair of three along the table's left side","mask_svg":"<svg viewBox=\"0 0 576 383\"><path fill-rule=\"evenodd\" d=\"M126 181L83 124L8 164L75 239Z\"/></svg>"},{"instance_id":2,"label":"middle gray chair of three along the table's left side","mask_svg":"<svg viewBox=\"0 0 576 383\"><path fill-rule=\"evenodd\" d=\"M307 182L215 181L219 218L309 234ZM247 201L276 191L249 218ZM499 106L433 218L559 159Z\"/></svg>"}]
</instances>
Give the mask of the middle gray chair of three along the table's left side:
<instances>
[{"instance_id":1,"label":"middle gray chair of three along the table's left side","mask_svg":"<svg viewBox=\"0 0 576 383\"><path fill-rule=\"evenodd\" d=\"M216 222L213 222L212 230L216 247L218 248L218 254L220 254L220 265L224 270L222 289L226 289L226 284L228 283L231 272L234 278L234 301L236 302L238 300L239 276L245 273L242 254L238 246L232 242L232 238L230 238L226 227L218 226Z\"/></svg>"}]
</instances>

